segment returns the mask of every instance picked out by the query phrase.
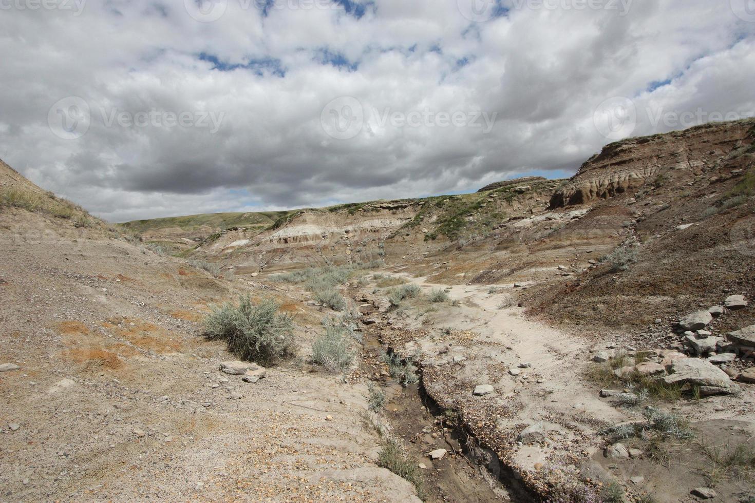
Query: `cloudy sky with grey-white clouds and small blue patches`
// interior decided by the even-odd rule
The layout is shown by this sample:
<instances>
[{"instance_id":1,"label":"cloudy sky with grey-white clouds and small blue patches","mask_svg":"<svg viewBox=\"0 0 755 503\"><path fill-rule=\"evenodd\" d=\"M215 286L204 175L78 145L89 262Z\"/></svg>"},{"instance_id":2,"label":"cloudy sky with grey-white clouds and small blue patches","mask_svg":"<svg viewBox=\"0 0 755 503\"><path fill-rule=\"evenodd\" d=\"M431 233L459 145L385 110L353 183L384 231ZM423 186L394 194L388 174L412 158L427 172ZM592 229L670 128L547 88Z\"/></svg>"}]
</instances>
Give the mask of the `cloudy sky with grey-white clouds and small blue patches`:
<instances>
[{"instance_id":1,"label":"cloudy sky with grey-white clouds and small blue patches","mask_svg":"<svg viewBox=\"0 0 755 503\"><path fill-rule=\"evenodd\" d=\"M570 176L755 111L753 0L0 0L0 158L111 221Z\"/></svg>"}]
</instances>

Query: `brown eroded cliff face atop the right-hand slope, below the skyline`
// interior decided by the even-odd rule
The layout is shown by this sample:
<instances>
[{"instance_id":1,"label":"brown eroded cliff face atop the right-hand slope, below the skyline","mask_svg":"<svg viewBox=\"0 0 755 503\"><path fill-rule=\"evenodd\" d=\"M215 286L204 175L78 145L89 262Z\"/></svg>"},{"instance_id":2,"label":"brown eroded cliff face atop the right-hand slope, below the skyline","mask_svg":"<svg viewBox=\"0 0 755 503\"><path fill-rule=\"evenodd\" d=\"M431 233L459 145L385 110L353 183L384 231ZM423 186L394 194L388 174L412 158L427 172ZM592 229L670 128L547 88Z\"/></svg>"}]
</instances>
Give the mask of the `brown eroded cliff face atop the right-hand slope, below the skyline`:
<instances>
[{"instance_id":1,"label":"brown eroded cliff face atop the right-hand slope, below the skyline","mask_svg":"<svg viewBox=\"0 0 755 503\"><path fill-rule=\"evenodd\" d=\"M712 170L750 146L755 121L704 124L688 130L611 143L582 164L550 199L550 208L587 204L673 178L675 186Z\"/></svg>"}]
</instances>

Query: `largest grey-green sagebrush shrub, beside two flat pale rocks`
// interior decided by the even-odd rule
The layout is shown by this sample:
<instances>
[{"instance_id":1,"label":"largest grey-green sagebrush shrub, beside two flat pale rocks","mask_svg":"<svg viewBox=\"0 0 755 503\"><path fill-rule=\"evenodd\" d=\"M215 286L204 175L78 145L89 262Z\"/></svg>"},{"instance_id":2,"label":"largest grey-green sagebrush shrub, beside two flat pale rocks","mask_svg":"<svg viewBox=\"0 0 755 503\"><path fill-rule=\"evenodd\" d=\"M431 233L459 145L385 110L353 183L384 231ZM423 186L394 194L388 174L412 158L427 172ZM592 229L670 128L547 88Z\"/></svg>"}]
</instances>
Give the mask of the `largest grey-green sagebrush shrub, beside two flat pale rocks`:
<instances>
[{"instance_id":1,"label":"largest grey-green sagebrush shrub, beside two flat pale rocks","mask_svg":"<svg viewBox=\"0 0 755 503\"><path fill-rule=\"evenodd\" d=\"M293 318L279 307L273 299L254 305L248 295L239 298L239 305L212 306L204 321L205 336L225 340L242 360L276 363L296 352Z\"/></svg>"}]
</instances>

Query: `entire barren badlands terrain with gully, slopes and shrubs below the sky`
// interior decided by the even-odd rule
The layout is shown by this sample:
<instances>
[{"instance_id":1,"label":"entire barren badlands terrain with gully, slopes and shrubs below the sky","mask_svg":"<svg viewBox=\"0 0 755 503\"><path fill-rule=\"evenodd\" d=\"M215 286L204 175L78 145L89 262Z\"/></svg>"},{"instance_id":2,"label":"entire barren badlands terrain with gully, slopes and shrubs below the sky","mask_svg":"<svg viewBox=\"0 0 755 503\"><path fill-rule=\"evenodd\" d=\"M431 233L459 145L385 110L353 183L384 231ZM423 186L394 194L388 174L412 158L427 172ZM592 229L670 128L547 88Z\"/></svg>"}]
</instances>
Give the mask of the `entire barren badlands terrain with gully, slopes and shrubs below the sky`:
<instances>
[{"instance_id":1,"label":"entire barren badlands terrain with gully, slopes and shrubs below the sky","mask_svg":"<svg viewBox=\"0 0 755 503\"><path fill-rule=\"evenodd\" d=\"M104 222L0 163L2 501L755 501L755 121Z\"/></svg>"}]
</instances>

